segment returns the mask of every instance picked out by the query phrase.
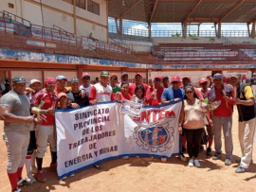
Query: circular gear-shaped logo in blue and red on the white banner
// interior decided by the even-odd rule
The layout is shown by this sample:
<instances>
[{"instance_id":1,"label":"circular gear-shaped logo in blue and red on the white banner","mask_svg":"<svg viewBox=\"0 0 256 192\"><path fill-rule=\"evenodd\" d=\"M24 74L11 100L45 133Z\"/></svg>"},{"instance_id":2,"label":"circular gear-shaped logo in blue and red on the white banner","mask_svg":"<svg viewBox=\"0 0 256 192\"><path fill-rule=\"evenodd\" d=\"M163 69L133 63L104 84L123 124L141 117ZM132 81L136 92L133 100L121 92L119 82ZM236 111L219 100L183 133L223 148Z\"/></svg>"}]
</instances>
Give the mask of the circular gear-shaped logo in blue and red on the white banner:
<instances>
[{"instance_id":1,"label":"circular gear-shaped logo in blue and red on the white banner","mask_svg":"<svg viewBox=\"0 0 256 192\"><path fill-rule=\"evenodd\" d=\"M173 147L174 128L169 123L151 128L137 126L134 132L134 139L137 146L142 147L144 150L151 150L152 152L159 150L163 152L166 148Z\"/></svg>"}]
</instances>

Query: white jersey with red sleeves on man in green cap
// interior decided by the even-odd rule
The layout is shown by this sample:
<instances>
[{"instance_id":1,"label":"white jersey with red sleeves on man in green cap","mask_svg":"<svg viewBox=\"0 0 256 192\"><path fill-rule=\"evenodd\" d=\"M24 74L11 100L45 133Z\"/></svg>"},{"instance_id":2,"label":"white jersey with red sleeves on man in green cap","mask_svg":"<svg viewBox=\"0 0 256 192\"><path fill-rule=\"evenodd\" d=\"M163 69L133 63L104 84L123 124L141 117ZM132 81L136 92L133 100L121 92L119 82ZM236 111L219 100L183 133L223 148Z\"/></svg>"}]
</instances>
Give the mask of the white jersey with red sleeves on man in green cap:
<instances>
[{"instance_id":1,"label":"white jersey with red sleeves on man in green cap","mask_svg":"<svg viewBox=\"0 0 256 192\"><path fill-rule=\"evenodd\" d=\"M101 82L98 82L91 87L89 98L90 98L91 104L94 99L97 99L98 102L115 100L111 86L110 85L104 86L101 84Z\"/></svg>"}]
</instances>

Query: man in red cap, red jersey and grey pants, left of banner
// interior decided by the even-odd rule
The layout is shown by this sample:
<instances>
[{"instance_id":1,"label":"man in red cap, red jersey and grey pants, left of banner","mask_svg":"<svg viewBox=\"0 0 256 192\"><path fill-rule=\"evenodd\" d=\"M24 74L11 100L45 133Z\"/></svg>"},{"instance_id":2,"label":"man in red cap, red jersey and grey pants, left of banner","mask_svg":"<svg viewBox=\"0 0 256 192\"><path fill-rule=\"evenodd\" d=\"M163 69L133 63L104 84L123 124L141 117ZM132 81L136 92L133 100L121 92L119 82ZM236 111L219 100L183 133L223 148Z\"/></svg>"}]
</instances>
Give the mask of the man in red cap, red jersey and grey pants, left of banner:
<instances>
[{"instance_id":1,"label":"man in red cap, red jersey and grey pants, left of banner","mask_svg":"<svg viewBox=\"0 0 256 192\"><path fill-rule=\"evenodd\" d=\"M56 81L54 78L46 78L45 87L46 90L41 92L35 99L34 106L32 107L32 113L39 114L42 119L42 124L37 130L37 151L36 151L36 163L37 174L36 179L38 182L45 183L46 176L42 169L43 157L46 153L47 143L50 144L51 151L51 164L49 166L50 171L56 171L57 168L57 150L56 150L56 135L55 135L55 122L54 112L57 105L57 95L54 93ZM39 108L39 106L42 106Z\"/></svg>"}]
</instances>

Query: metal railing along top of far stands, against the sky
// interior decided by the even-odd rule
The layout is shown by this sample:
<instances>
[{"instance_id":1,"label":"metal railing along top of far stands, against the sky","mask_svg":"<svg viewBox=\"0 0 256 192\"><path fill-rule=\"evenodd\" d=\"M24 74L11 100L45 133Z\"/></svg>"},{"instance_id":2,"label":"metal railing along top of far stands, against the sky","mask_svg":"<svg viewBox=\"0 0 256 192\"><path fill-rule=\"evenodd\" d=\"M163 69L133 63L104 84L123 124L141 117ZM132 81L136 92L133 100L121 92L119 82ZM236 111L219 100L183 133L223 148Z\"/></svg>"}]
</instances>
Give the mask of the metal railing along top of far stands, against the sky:
<instances>
[{"instance_id":1,"label":"metal railing along top of far stands, against the sky","mask_svg":"<svg viewBox=\"0 0 256 192\"><path fill-rule=\"evenodd\" d=\"M118 33L116 26L108 26L109 33ZM137 37L149 37L149 30L137 29L137 28L122 28L123 35L137 36ZM152 30L151 37L182 37L182 30ZM187 30L187 37L216 37L215 30ZM221 36L225 37L249 37L247 30L222 30Z\"/></svg>"}]
</instances>

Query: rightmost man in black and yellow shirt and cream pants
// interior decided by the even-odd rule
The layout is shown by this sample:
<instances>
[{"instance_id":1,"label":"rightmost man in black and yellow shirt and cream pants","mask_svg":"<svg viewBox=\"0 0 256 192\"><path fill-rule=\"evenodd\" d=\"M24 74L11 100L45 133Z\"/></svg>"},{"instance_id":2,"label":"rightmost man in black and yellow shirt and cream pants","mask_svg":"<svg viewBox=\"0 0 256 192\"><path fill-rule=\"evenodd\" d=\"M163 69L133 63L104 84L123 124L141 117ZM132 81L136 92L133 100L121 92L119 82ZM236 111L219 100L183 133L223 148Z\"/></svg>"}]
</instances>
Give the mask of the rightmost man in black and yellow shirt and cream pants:
<instances>
[{"instance_id":1,"label":"rightmost man in black and yellow shirt and cream pants","mask_svg":"<svg viewBox=\"0 0 256 192\"><path fill-rule=\"evenodd\" d=\"M246 83L240 83L238 75L230 76L231 84L236 90L234 103L238 111L238 137L242 151L242 158L238 160L240 166L236 173L244 173L252 160L253 137L255 131L254 96L251 87Z\"/></svg>"}]
</instances>

